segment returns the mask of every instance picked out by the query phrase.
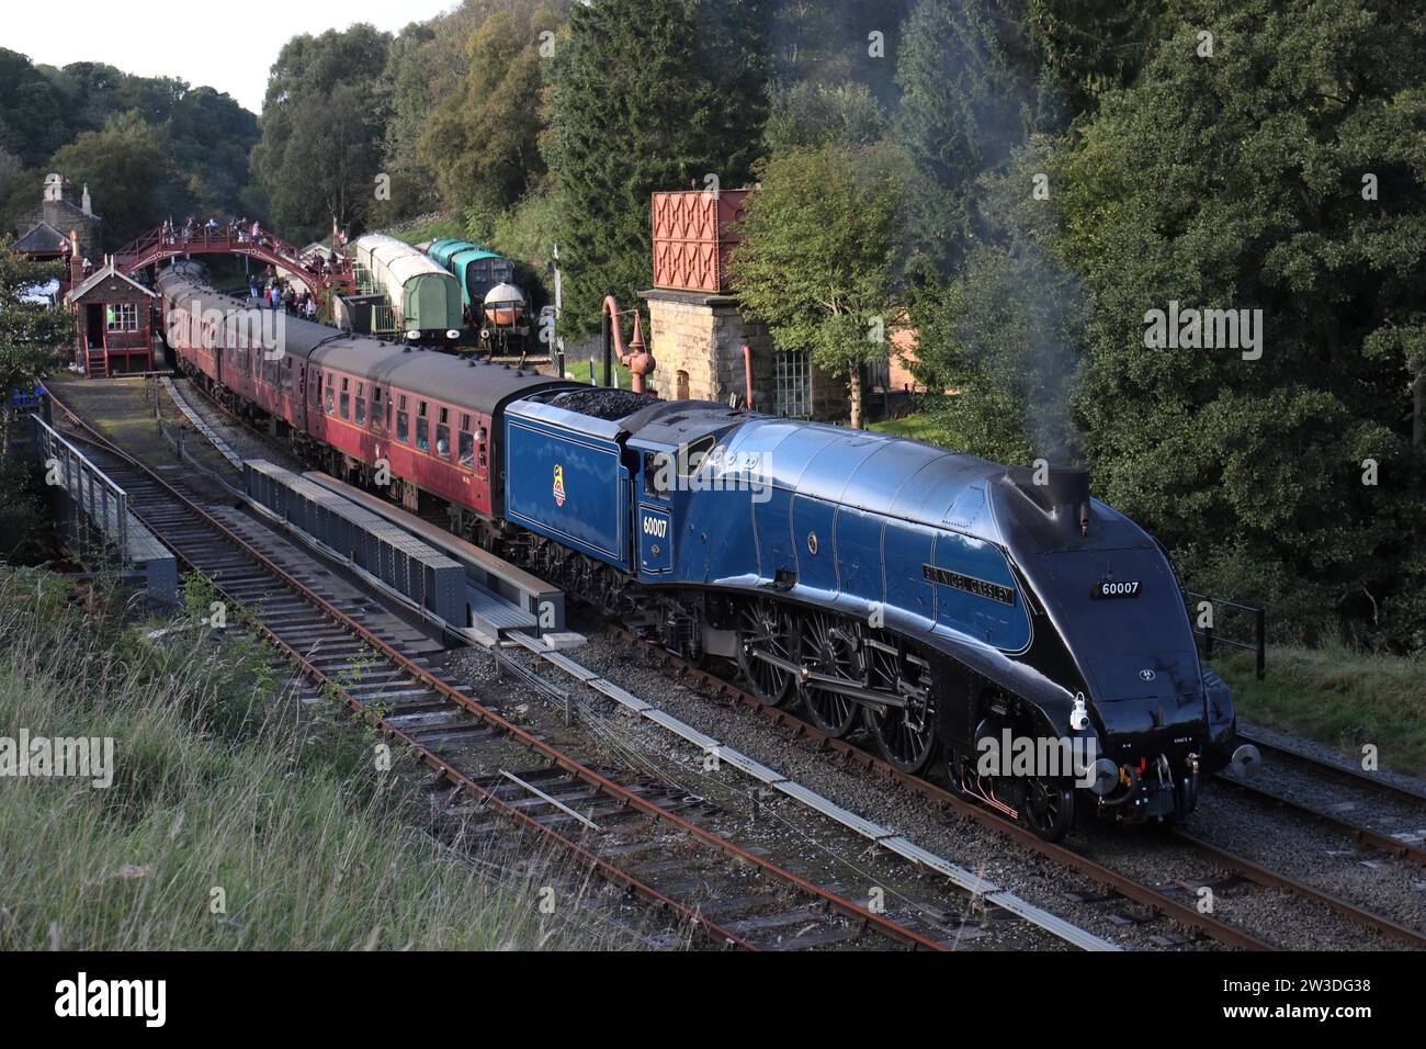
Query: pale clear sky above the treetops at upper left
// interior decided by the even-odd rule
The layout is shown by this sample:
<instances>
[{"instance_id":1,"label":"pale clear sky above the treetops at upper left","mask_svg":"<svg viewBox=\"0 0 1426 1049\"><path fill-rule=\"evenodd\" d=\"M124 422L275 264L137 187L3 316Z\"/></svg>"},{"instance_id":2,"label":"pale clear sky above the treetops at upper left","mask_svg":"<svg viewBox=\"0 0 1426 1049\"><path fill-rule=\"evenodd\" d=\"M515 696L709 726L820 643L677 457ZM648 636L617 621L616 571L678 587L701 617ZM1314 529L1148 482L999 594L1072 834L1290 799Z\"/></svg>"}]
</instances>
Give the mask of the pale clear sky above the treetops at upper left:
<instances>
[{"instance_id":1,"label":"pale clear sky above the treetops at upper left","mask_svg":"<svg viewBox=\"0 0 1426 1049\"><path fill-rule=\"evenodd\" d=\"M267 74L278 51L302 33L342 30L356 21L398 33L458 6L458 0L342 0L234 4L190 0L173 9L113 0L7 3L0 46L36 64L103 61L145 77L178 77L194 87L227 91L260 113ZM173 20L158 21L160 11ZM56 31L57 24L63 31ZM180 31L183 36L180 37Z\"/></svg>"}]
</instances>

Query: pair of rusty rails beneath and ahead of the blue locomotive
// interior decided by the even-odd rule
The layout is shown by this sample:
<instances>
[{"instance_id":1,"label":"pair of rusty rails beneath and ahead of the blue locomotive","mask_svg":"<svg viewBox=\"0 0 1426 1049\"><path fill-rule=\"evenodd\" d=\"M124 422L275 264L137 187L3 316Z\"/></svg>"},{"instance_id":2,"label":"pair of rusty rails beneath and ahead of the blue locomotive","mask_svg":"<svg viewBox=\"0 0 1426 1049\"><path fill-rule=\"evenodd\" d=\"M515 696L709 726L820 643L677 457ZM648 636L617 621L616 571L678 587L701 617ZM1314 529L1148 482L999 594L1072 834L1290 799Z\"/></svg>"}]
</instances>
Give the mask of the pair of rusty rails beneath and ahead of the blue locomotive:
<instances>
[{"instance_id":1,"label":"pair of rusty rails beneath and ahead of the blue locomotive","mask_svg":"<svg viewBox=\"0 0 1426 1049\"><path fill-rule=\"evenodd\" d=\"M744 706L756 711L757 714L769 718L774 724L780 725L790 735L803 738L814 742L824 751L837 755L848 766L858 768L867 774L877 775L886 779L891 779L906 786L910 791L933 801L943 808L954 811L957 815L970 816L977 822L994 829L995 832L1008 836L1021 845L1025 845L1035 852L1052 859L1054 862L1065 866L1068 869L1077 871L1081 875L1092 879L1094 882L1102 885L1111 892L1119 893L1132 899L1135 902L1144 903L1166 918L1194 928L1201 933L1211 936L1225 945L1262 949L1269 945L1263 943L1261 939L1252 933L1239 929L1233 925L1224 922L1212 915L1199 913L1198 909L1184 901L1175 899L1165 892L1155 889L1149 885L1144 885L1109 866L1105 866L1089 856L1081 855L1074 849L1045 842L1028 829L1020 826L1018 824L1007 819L1005 816L990 811L981 805L977 805L960 795L945 789L944 786L931 782L923 776L915 776L906 774L896 766L883 761L874 752L858 746L856 742L847 739L836 739L827 734L817 729L810 722L797 716L796 714L777 706L770 706L761 699L754 696L752 692L739 688L736 684L727 681L726 678L713 674L707 669L700 669L690 665L687 661L667 652L659 645L639 638L623 629L622 627L612 628L616 635L623 638L627 644L636 647L639 651L645 652L647 657L653 658L656 662L662 664L673 676L680 679L696 681L702 686L713 691L729 699L734 699ZM1356 828L1353 829L1365 829ZM1305 882L1289 878L1286 875L1269 871L1251 859L1236 855L1228 849L1222 849L1206 841L1202 841L1185 831L1175 829L1169 835L1171 841L1178 842L1196 853L1208 866L1216 866L1219 869L1226 869L1232 873L1235 879L1249 882L1262 889L1278 889L1289 892L1299 899L1309 901L1313 905L1333 911L1335 913L1346 918L1350 922L1363 925L1366 928L1375 929L1386 938L1395 939L1397 942L1406 943L1415 948L1426 948L1426 935L1417 929L1412 929L1393 922L1389 918L1378 915L1366 908L1358 906L1349 901L1333 896L1328 892L1322 892ZM1400 842L1392 842L1393 845L1400 845Z\"/></svg>"}]
</instances>

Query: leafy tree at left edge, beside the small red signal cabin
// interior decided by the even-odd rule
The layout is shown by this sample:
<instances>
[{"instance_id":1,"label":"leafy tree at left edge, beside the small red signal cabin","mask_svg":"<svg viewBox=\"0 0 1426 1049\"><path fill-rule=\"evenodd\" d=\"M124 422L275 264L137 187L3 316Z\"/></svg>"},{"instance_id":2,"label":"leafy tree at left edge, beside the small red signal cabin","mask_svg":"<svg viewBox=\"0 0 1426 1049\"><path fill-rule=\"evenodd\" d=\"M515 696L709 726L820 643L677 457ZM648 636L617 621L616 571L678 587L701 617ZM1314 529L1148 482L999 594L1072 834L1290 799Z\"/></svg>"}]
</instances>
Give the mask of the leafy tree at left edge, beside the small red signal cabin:
<instances>
[{"instance_id":1,"label":"leafy tree at left edge, beside the small red signal cabin","mask_svg":"<svg viewBox=\"0 0 1426 1049\"><path fill-rule=\"evenodd\" d=\"M27 301L27 294L64 275L63 263L36 263L0 243L0 460L10 454L14 405L10 394L31 390L58 361L56 351L73 338L70 314Z\"/></svg>"}]
</instances>

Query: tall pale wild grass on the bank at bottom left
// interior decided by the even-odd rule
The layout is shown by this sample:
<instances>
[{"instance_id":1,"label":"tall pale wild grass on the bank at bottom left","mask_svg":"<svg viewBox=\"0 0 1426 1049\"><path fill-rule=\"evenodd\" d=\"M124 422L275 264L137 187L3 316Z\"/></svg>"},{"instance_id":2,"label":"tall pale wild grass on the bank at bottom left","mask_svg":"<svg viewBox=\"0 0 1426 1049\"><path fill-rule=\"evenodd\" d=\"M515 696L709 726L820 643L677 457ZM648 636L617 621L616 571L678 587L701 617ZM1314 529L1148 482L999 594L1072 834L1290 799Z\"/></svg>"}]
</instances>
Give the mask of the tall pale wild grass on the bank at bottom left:
<instances>
[{"instance_id":1,"label":"tall pale wild grass on the bank at bottom left","mask_svg":"<svg viewBox=\"0 0 1426 1049\"><path fill-rule=\"evenodd\" d=\"M190 584L195 622L208 595ZM88 607L86 607L86 604ZM0 735L111 736L113 785L0 778L0 949L607 946L530 873L418 829L409 759L335 702L298 712L240 627L123 627L0 574Z\"/></svg>"}]
</instances>

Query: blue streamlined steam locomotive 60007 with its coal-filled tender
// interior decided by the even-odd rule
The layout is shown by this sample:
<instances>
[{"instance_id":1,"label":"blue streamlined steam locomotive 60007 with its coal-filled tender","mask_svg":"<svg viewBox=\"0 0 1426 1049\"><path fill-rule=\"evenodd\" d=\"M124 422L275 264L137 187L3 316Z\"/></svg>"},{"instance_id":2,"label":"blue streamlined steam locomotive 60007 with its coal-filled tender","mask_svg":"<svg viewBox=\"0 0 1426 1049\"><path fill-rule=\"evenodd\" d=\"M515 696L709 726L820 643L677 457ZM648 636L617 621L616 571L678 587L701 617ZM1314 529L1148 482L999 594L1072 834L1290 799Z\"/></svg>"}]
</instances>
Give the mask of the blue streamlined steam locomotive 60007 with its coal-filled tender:
<instances>
[{"instance_id":1,"label":"blue streamlined steam locomotive 60007 with its coal-filled tender","mask_svg":"<svg viewBox=\"0 0 1426 1049\"><path fill-rule=\"evenodd\" d=\"M1235 758L1168 558L1082 471L612 390L543 390L503 425L536 569L904 771L943 756L1045 838L1077 805L1176 822Z\"/></svg>"}]
</instances>

